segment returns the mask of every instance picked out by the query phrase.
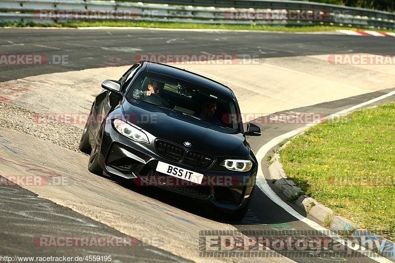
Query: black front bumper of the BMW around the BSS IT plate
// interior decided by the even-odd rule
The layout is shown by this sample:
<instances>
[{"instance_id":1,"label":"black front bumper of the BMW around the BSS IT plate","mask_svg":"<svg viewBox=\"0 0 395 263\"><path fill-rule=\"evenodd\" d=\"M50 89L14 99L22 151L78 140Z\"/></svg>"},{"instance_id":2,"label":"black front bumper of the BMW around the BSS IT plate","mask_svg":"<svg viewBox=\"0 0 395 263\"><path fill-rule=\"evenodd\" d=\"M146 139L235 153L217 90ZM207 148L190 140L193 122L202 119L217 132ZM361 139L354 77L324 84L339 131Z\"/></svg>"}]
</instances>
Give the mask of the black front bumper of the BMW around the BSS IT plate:
<instances>
[{"instance_id":1,"label":"black front bumper of the BMW around the BSS IT plate","mask_svg":"<svg viewBox=\"0 0 395 263\"><path fill-rule=\"evenodd\" d=\"M158 162L175 165L204 174L200 185L156 171ZM248 172L216 169L218 159L208 169L191 167L183 162L173 162L158 155L155 142L134 142L119 134L107 122L104 127L99 164L115 176L134 180L141 186L158 186L181 195L197 198L214 205L219 210L233 213L242 208L255 184L257 164Z\"/></svg>"}]
</instances>

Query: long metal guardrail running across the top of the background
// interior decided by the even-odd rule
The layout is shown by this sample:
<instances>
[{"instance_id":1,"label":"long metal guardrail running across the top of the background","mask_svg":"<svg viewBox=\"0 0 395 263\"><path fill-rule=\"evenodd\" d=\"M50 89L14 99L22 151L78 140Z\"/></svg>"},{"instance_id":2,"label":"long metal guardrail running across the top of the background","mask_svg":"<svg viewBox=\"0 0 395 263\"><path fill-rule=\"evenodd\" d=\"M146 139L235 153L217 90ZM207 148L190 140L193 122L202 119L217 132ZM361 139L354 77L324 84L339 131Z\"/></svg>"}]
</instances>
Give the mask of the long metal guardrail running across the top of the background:
<instances>
[{"instance_id":1,"label":"long metal guardrail running across the top of the background","mask_svg":"<svg viewBox=\"0 0 395 263\"><path fill-rule=\"evenodd\" d=\"M193 4L193 5L192 5ZM254 9L245 9L254 8ZM90 0L1 0L0 21L53 23L38 18L38 10L133 10L134 21L158 21L237 25L337 25L357 28L395 29L395 13L372 9L296 0L150 0L150 3ZM237 19L230 12L270 10L317 10L325 18ZM1 12L2 11L2 12ZM4 12L5 11L5 12ZM66 22L66 20L62 20ZM60 22L62 22L60 21Z\"/></svg>"}]
</instances>

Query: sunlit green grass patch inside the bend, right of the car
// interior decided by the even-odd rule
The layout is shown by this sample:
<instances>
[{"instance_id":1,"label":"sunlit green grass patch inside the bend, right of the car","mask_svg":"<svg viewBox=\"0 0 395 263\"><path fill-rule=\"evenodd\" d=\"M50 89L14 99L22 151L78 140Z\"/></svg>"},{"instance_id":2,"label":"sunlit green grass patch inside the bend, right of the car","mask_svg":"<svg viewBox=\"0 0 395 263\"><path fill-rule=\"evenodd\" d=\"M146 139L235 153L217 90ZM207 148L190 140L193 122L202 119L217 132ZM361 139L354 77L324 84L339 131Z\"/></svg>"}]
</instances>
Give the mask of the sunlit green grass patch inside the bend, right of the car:
<instances>
[{"instance_id":1,"label":"sunlit green grass patch inside the bend, right of the car","mask_svg":"<svg viewBox=\"0 0 395 263\"><path fill-rule=\"evenodd\" d=\"M395 240L395 103L316 125L281 151L287 176L359 226ZM381 176L392 185L353 186L334 176Z\"/></svg>"}]
</instances>

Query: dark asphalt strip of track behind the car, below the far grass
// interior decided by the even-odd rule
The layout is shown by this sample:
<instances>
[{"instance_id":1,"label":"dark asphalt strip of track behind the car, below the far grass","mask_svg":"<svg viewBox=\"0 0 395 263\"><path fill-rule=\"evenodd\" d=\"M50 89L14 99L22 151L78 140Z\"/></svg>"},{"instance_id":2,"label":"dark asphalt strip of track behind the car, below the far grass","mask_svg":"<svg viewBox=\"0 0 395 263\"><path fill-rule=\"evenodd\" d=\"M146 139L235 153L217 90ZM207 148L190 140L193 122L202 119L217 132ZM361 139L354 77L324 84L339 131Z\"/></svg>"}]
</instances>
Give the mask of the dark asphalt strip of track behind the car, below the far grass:
<instances>
[{"instance_id":1,"label":"dark asphalt strip of track behind the car, below the far grass","mask_svg":"<svg viewBox=\"0 0 395 263\"><path fill-rule=\"evenodd\" d=\"M2 54L68 55L68 65L1 66L0 81L93 67L130 65L144 54L251 54L261 58L316 54L392 54L393 38L333 34L157 30L1 30Z\"/></svg>"}]
</instances>

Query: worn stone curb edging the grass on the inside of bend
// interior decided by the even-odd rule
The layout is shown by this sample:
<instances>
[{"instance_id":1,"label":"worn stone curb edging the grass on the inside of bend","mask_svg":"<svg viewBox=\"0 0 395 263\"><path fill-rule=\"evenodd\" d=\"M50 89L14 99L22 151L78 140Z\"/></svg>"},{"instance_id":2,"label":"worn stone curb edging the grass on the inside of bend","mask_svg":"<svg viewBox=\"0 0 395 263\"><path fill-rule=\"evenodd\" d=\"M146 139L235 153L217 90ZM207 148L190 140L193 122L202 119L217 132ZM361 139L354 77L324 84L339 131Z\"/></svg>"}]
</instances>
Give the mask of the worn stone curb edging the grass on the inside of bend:
<instances>
[{"instance_id":1,"label":"worn stone curb edging the grass on the inside of bend","mask_svg":"<svg viewBox=\"0 0 395 263\"><path fill-rule=\"evenodd\" d=\"M286 147L290 141L287 141L280 150ZM287 176L279 162L279 154L275 153L269 162L269 175L271 179L276 180L274 185L288 199L296 199L295 204L303 208L307 214L315 217L321 224L327 225L333 230L341 231L352 238L353 242L379 253L381 256L395 259L395 242L385 237L360 229L351 220L342 216L336 216L333 210L318 203L316 199L304 195L302 190L295 185L292 180L286 179ZM273 163L272 163L273 162Z\"/></svg>"}]
</instances>

